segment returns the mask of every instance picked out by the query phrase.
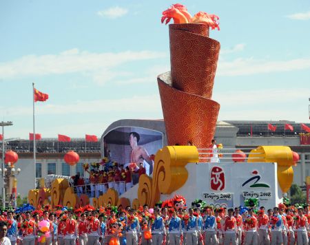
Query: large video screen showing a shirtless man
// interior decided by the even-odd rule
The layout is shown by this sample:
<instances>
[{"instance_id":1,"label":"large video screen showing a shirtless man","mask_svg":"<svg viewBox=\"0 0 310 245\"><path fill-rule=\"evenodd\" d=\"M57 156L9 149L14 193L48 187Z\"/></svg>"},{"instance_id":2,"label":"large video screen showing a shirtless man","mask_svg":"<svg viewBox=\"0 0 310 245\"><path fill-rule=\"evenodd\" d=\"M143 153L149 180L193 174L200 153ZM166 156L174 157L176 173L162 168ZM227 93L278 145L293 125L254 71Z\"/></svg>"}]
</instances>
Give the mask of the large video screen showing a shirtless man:
<instances>
[{"instance_id":1,"label":"large video screen showing a shirtless man","mask_svg":"<svg viewBox=\"0 0 310 245\"><path fill-rule=\"evenodd\" d=\"M163 148L163 134L160 131L141 127L118 127L103 137L104 156L124 167L134 162L143 163L146 173L152 173L153 160L158 149Z\"/></svg>"}]
</instances>

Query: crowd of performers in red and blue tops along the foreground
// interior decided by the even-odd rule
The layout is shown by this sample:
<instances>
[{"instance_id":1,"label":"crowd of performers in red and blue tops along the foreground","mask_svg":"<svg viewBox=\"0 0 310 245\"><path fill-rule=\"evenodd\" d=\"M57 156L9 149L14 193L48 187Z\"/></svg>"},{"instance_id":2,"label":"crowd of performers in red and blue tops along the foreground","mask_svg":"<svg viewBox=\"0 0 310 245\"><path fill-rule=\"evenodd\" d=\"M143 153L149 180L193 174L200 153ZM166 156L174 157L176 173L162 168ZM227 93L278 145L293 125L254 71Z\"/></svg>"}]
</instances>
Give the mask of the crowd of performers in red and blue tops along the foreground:
<instances>
[{"instance_id":1,"label":"crowd of performers in red and blue tops along the foreground","mask_svg":"<svg viewBox=\"0 0 310 245\"><path fill-rule=\"evenodd\" d=\"M3 212L0 244L309 244L309 222L308 206L212 209L195 200L187 208L176 195L154 209L45 205Z\"/></svg>"}]
</instances>

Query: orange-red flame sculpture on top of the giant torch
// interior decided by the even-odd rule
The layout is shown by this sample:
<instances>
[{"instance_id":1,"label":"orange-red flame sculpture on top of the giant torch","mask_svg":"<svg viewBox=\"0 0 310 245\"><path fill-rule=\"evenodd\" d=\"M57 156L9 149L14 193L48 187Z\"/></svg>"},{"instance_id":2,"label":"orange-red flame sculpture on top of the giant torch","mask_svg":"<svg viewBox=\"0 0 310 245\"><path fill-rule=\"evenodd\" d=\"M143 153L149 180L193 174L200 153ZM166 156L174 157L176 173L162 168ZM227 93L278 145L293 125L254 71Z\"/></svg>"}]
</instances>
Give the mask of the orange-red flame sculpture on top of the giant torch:
<instances>
[{"instance_id":1,"label":"orange-red flame sculpture on top of the giant torch","mask_svg":"<svg viewBox=\"0 0 310 245\"><path fill-rule=\"evenodd\" d=\"M174 20L175 24L182 23L205 23L211 27L212 30L220 30L218 23L218 16L215 14L208 14L207 12L198 12L192 17L187 11L187 8L180 3L173 4L170 8L163 12L163 17L161 18L161 23L167 25L171 19Z\"/></svg>"}]
</instances>

